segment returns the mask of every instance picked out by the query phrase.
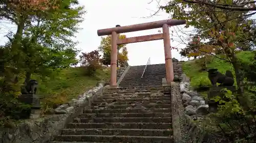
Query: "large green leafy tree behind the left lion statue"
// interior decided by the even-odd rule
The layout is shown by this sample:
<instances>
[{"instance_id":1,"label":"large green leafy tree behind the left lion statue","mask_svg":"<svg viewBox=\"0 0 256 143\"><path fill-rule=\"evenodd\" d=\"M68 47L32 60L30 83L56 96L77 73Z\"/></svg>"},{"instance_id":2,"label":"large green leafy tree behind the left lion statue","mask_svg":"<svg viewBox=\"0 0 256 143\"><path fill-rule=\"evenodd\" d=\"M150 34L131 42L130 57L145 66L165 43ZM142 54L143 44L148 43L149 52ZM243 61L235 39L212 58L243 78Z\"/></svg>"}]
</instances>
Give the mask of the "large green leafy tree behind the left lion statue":
<instances>
[{"instance_id":1,"label":"large green leafy tree behind the left lion statue","mask_svg":"<svg viewBox=\"0 0 256 143\"><path fill-rule=\"evenodd\" d=\"M57 9L36 9L34 13L14 11L19 19L18 30L10 33L10 41L4 50L5 83L15 74L26 74L26 81L32 73L49 75L53 70L76 64L76 42L71 39L78 32L83 20L83 7L75 6L77 1L58 2ZM25 19L24 19L25 18ZM24 20L24 23L20 23ZM34 24L35 23L35 24ZM18 37L17 37L18 36ZM1 57L2 58L2 57Z\"/></svg>"}]
</instances>

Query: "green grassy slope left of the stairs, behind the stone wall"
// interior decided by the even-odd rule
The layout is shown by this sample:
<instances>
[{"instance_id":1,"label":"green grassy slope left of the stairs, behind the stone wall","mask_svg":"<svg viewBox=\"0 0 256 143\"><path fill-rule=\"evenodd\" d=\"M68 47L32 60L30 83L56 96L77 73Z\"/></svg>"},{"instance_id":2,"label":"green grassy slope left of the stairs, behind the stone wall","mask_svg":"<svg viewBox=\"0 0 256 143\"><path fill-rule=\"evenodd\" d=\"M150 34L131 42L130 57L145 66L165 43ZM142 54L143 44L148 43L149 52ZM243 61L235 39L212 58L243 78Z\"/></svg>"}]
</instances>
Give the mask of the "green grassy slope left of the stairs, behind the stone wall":
<instances>
[{"instance_id":1,"label":"green grassy slope left of the stairs, behind the stone wall","mask_svg":"<svg viewBox=\"0 0 256 143\"><path fill-rule=\"evenodd\" d=\"M85 72L84 68L75 67L63 69L52 78L33 78L39 82L38 95L49 97L53 94L65 94L67 99L77 98L79 94L95 87L98 81L110 78L109 69L97 70L95 76L87 76Z\"/></svg>"}]
</instances>

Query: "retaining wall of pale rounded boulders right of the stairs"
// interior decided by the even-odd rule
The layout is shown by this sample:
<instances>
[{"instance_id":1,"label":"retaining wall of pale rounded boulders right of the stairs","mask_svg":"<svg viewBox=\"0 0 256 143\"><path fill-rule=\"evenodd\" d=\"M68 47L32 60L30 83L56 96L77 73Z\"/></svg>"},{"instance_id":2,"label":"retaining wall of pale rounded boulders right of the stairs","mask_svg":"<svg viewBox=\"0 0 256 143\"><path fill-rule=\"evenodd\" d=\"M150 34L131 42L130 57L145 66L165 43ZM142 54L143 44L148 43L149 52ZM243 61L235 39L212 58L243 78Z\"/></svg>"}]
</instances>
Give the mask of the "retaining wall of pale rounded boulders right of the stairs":
<instances>
[{"instance_id":1,"label":"retaining wall of pale rounded boulders right of the stairs","mask_svg":"<svg viewBox=\"0 0 256 143\"><path fill-rule=\"evenodd\" d=\"M214 136L204 132L203 128L195 121L202 121L208 113L209 106L205 104L204 99L196 91L190 88L189 78L182 74L180 82L180 92L182 94L182 103L184 108L184 118L188 125L188 134L193 143L210 143L216 142Z\"/></svg>"}]
</instances>

